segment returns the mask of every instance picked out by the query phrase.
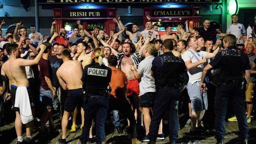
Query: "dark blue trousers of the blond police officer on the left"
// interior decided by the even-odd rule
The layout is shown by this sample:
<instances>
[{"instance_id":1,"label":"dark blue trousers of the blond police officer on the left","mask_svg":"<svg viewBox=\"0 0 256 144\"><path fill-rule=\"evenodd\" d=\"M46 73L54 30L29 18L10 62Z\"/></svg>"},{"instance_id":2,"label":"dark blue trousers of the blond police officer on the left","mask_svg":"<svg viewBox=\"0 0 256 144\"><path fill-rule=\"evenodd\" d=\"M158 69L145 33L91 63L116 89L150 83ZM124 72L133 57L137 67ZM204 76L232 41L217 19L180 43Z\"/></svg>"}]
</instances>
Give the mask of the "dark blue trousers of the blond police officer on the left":
<instances>
[{"instance_id":1,"label":"dark blue trousers of the blond police officer on the left","mask_svg":"<svg viewBox=\"0 0 256 144\"><path fill-rule=\"evenodd\" d=\"M95 95L94 95L95 96ZM105 96L89 97L83 105L85 110L85 123L80 140L87 143L92 120L96 115L96 144L101 144L106 140L105 121L107 118L108 99Z\"/></svg>"}]
</instances>

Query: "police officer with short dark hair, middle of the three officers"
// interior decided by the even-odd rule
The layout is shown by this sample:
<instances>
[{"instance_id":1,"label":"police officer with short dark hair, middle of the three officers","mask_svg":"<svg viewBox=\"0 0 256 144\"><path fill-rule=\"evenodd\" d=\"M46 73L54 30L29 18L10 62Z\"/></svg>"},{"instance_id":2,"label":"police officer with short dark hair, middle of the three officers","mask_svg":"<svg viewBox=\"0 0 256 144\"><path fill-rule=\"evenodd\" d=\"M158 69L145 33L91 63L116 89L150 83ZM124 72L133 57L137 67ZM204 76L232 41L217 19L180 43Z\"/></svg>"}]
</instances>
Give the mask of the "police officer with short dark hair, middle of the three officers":
<instances>
[{"instance_id":1,"label":"police officer with short dark hair, middle of the three officers","mask_svg":"<svg viewBox=\"0 0 256 144\"><path fill-rule=\"evenodd\" d=\"M182 59L175 57L171 52L173 50L173 42L166 39L163 42L164 54L156 57L152 61L151 75L155 77L156 97L153 106L153 116L149 129L148 144L156 144L159 124L163 117L164 111L169 111L169 139L170 144L175 144L179 122L178 122L178 79L186 69Z\"/></svg>"}]
</instances>

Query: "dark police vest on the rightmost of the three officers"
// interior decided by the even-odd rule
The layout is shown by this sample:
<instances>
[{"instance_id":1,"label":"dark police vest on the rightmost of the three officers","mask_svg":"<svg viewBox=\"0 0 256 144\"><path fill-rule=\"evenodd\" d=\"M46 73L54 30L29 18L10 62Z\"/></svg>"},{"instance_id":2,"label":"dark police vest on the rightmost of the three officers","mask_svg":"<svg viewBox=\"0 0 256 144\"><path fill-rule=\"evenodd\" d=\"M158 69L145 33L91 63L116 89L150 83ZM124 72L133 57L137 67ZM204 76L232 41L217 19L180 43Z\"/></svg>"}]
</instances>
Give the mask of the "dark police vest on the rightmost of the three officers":
<instances>
[{"instance_id":1,"label":"dark police vest on the rightmost of the three officers","mask_svg":"<svg viewBox=\"0 0 256 144\"><path fill-rule=\"evenodd\" d=\"M242 80L243 63L242 51L238 49L227 49L221 51L220 80ZM231 79L230 79L231 78Z\"/></svg>"}]
</instances>

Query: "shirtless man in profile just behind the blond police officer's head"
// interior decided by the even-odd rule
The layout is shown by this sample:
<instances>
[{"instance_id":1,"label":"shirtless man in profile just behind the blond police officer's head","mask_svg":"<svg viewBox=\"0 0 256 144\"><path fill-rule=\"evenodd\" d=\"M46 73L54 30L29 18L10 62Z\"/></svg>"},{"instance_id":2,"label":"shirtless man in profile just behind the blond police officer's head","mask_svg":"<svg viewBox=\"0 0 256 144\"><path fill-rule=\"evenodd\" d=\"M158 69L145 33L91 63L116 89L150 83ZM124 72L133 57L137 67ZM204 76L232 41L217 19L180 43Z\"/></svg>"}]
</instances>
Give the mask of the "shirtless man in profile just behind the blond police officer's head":
<instances>
[{"instance_id":1,"label":"shirtless man in profile just behind the blond police officer's head","mask_svg":"<svg viewBox=\"0 0 256 144\"><path fill-rule=\"evenodd\" d=\"M77 53L73 57L73 60L78 60L78 61L82 62L83 68L85 68L86 65L91 64L92 60L93 60L85 52L87 47L88 47L88 45L85 42L78 43L77 47L76 47L76 52Z\"/></svg>"}]
</instances>

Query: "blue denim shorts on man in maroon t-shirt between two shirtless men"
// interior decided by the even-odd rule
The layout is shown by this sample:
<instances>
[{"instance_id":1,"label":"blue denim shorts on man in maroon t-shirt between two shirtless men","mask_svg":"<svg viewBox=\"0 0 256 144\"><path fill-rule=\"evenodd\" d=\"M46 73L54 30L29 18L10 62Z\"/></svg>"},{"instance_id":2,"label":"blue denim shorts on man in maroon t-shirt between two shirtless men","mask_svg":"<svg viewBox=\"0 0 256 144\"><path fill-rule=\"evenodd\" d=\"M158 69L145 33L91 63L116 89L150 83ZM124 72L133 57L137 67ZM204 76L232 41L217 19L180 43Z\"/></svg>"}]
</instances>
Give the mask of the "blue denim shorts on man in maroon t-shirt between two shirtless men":
<instances>
[{"instance_id":1,"label":"blue denim shorts on man in maroon t-shirt between two shirtless men","mask_svg":"<svg viewBox=\"0 0 256 144\"><path fill-rule=\"evenodd\" d=\"M40 86L40 95L42 96L42 104L46 109L52 109L53 93L51 90L45 90Z\"/></svg>"}]
</instances>

